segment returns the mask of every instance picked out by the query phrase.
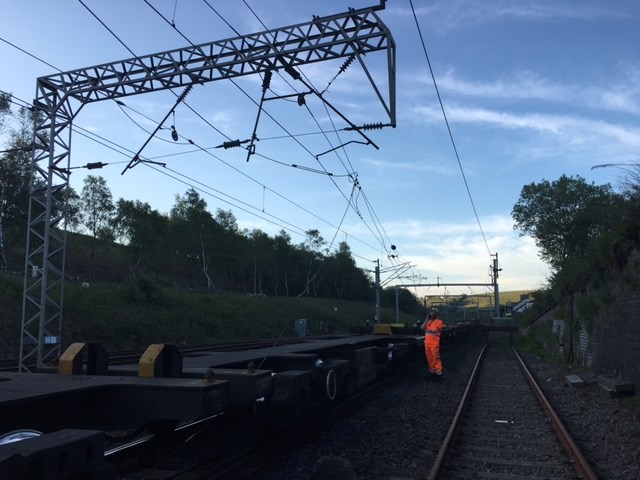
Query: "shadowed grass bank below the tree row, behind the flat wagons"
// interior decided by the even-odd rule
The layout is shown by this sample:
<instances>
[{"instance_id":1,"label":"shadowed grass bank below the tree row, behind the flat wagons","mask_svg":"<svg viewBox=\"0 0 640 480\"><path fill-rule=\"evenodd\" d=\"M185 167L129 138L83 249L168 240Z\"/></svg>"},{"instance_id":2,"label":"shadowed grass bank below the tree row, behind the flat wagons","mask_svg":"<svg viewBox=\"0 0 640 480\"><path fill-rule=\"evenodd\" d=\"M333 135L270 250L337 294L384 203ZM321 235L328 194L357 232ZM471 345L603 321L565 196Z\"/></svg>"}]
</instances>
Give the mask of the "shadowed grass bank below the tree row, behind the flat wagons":
<instances>
[{"instance_id":1,"label":"shadowed grass bank below the tree row, behind the flat wagons","mask_svg":"<svg viewBox=\"0 0 640 480\"><path fill-rule=\"evenodd\" d=\"M22 278L0 276L0 334L19 339ZM146 348L151 343L197 344L295 336L295 322L310 333L373 323L372 302L317 298L257 297L222 291L168 289L141 280L124 284L65 285L62 345L98 342L109 351ZM395 308L382 319L395 323ZM415 316L400 313L401 323ZM13 340L12 340L13 339Z\"/></svg>"}]
</instances>

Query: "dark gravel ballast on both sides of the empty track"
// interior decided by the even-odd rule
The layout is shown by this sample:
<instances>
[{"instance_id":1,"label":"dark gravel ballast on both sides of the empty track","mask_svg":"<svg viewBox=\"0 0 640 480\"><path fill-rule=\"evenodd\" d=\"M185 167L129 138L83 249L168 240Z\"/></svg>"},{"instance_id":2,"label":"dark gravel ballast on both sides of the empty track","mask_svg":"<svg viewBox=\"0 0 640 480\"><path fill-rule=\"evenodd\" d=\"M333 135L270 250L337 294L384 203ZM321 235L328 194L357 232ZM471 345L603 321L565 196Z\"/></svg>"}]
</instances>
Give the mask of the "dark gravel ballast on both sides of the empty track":
<instances>
[{"instance_id":1,"label":"dark gravel ballast on both sides of the empty track","mask_svg":"<svg viewBox=\"0 0 640 480\"><path fill-rule=\"evenodd\" d=\"M329 422L321 438L291 451L258 480L424 479L455 415L483 342L443 345L442 382L408 372L375 399ZM640 480L640 421L598 385L567 386L566 369L523 355L601 480Z\"/></svg>"}]
</instances>

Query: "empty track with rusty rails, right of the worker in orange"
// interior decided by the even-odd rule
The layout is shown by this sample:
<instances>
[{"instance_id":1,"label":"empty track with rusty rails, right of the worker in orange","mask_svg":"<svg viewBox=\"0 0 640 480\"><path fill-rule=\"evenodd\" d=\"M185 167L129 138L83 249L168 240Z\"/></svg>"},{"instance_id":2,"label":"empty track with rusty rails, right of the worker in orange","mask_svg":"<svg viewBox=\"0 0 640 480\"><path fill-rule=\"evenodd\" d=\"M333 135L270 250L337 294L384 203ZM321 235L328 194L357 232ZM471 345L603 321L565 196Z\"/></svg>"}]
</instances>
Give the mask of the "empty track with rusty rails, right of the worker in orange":
<instances>
[{"instance_id":1,"label":"empty track with rusty rails, right of the worker in orange","mask_svg":"<svg viewBox=\"0 0 640 480\"><path fill-rule=\"evenodd\" d=\"M597 477L515 349L485 347L428 476L445 478Z\"/></svg>"}]
</instances>

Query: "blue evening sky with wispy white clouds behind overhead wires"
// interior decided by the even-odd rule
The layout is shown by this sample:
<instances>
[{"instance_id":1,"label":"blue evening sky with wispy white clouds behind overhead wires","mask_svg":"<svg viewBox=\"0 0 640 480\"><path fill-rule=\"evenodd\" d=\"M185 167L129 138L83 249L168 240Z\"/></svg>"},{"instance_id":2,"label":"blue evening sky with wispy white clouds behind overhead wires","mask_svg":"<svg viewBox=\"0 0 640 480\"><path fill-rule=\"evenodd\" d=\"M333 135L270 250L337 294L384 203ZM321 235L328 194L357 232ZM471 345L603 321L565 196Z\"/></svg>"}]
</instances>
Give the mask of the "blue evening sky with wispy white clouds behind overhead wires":
<instances>
[{"instance_id":1,"label":"blue evening sky with wispy white clouds behind overhead wires","mask_svg":"<svg viewBox=\"0 0 640 480\"><path fill-rule=\"evenodd\" d=\"M58 71L380 2L0 5L0 90L19 105L32 101L38 77ZM284 229L298 244L318 229L330 252L346 241L360 267L380 266L384 286L441 285L410 287L418 296L490 292L483 284L495 258L501 291L544 287L549 268L535 241L514 230L512 208L524 185L563 174L617 188L620 170L593 167L639 160L640 3L388 0L377 14L396 45L395 128L344 130L389 123L373 88L388 100L385 52L362 58L366 71L358 60L344 71L344 59L300 66L325 103L309 94L299 105L307 87L282 69L262 110L261 76L220 79L194 86L172 114L182 91L85 105L74 120L71 186L80 192L87 175L101 175L114 200L163 213L196 188L214 215L230 210L248 231ZM236 139L243 147L220 147ZM141 149L159 164L125 171ZM89 162L108 165L82 168Z\"/></svg>"}]
</instances>

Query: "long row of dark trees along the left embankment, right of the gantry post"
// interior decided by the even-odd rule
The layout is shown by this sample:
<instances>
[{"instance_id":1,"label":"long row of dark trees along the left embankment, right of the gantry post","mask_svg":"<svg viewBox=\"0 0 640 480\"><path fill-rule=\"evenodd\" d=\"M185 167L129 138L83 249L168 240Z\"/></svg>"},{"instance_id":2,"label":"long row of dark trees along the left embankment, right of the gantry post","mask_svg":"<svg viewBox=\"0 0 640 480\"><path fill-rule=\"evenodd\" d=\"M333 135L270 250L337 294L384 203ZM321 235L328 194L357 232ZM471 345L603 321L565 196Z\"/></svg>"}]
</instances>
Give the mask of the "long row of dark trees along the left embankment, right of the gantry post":
<instances>
[{"instance_id":1,"label":"long row of dark trees along the left embankment, right of the gantry post","mask_svg":"<svg viewBox=\"0 0 640 480\"><path fill-rule=\"evenodd\" d=\"M114 203L106 181L93 175L70 200L77 215L67 226L82 234L72 236L68 248L72 278L146 278L197 290L373 299L369 274L357 267L346 242L330 251L317 229L306 231L298 244L285 231L271 236L241 230L232 212L218 209L212 215L193 188L175 196L168 214L139 200Z\"/></svg>"}]
</instances>

